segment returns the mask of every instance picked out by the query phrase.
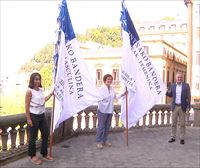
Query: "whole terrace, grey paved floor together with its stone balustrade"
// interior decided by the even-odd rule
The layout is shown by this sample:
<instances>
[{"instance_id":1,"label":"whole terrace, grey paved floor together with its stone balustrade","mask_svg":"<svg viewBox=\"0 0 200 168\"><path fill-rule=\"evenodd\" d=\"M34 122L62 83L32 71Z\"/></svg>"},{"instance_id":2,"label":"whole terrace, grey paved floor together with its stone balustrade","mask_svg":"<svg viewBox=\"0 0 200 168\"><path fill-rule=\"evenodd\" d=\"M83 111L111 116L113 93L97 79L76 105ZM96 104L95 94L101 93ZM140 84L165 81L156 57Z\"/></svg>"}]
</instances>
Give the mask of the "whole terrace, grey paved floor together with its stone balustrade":
<instances>
[{"instance_id":1,"label":"whole terrace, grey paved floor together with its stone balustrade","mask_svg":"<svg viewBox=\"0 0 200 168\"><path fill-rule=\"evenodd\" d=\"M41 167L198 167L200 145L200 105L194 105L186 115L186 144L173 144L170 137L171 111L169 105L154 106L129 130L126 146L124 127L120 122L120 106L115 106L109 138L110 148L96 149L97 107L92 106L63 122L54 133L53 162ZM190 115L194 110L194 120ZM47 109L50 123L51 109ZM28 156L29 137L24 114L0 118L2 167L35 167ZM40 136L37 146L40 146ZM187 156L185 153L187 151ZM38 154L38 156L40 156ZM23 157L23 158L22 158ZM20 159L22 158L22 159Z\"/></svg>"}]
</instances>

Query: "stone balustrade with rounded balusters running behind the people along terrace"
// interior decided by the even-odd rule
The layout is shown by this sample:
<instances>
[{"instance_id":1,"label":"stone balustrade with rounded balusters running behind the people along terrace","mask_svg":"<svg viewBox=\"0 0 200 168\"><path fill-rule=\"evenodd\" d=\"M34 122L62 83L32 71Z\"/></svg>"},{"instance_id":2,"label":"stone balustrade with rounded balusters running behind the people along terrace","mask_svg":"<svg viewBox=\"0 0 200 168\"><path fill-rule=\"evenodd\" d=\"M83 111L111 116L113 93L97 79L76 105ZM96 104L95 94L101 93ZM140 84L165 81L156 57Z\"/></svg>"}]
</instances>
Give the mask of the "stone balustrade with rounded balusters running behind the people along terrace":
<instances>
[{"instance_id":1,"label":"stone balustrade with rounded balusters running behind the people along terrace","mask_svg":"<svg viewBox=\"0 0 200 168\"><path fill-rule=\"evenodd\" d=\"M120 120L120 106L114 107L111 131L123 131L124 127ZM186 115L186 124L200 126L200 106L194 106L195 123L189 120L190 113ZM51 122L51 108L46 109L48 125ZM141 127L164 127L170 125L171 110L170 105L155 105L140 121L131 129ZM54 132L54 143L60 142L76 134L95 133L97 128L97 106L91 106L84 111L79 112L74 117L60 124ZM195 125L196 124L196 125ZM198 125L199 124L199 125ZM0 162L6 163L7 160L18 158L27 151L29 139L29 129L26 124L25 114L5 116L0 118ZM40 136L38 136L37 146L40 145Z\"/></svg>"}]
</instances>

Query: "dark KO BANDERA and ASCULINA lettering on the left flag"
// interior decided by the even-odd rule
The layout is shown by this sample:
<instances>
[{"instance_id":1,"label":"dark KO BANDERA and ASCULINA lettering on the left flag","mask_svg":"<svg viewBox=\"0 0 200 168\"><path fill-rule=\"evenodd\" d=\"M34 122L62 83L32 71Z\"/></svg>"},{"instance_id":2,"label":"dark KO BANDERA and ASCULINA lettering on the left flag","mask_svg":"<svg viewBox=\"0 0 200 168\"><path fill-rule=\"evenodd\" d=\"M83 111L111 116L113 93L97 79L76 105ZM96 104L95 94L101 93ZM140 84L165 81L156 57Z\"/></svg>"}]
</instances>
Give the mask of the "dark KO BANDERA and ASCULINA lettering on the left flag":
<instances>
[{"instance_id":1,"label":"dark KO BANDERA and ASCULINA lettering on the left flag","mask_svg":"<svg viewBox=\"0 0 200 168\"><path fill-rule=\"evenodd\" d=\"M67 73L69 93L70 95L74 94L76 88L77 98L81 98L83 97L84 90L81 72L71 44L67 44L66 49L67 53L65 53L65 70Z\"/></svg>"}]
</instances>

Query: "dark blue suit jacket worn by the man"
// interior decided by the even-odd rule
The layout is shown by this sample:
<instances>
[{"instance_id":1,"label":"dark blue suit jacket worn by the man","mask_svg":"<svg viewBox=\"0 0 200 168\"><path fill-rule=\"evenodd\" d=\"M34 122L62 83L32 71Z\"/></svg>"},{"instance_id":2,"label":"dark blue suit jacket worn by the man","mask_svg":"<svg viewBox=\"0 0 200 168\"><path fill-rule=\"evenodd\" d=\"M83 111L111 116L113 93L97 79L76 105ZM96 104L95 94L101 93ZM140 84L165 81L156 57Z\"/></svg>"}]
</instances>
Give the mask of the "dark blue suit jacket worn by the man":
<instances>
[{"instance_id":1,"label":"dark blue suit jacket worn by the man","mask_svg":"<svg viewBox=\"0 0 200 168\"><path fill-rule=\"evenodd\" d=\"M172 97L172 110L174 110L176 99L176 83L171 85L171 88L169 91L167 91L166 96ZM187 108L191 108L190 86L185 82L182 82L181 108L183 111L186 111Z\"/></svg>"}]
</instances>

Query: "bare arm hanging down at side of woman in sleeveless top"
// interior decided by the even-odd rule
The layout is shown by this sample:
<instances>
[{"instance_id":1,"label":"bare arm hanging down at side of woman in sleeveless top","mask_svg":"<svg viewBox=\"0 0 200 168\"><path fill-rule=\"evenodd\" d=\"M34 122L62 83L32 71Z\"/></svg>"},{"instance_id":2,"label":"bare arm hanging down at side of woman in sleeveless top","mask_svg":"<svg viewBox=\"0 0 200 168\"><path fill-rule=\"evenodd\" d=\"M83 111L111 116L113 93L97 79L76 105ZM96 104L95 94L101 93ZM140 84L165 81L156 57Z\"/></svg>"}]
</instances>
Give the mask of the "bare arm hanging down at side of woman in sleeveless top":
<instances>
[{"instance_id":1,"label":"bare arm hanging down at side of woman in sleeveless top","mask_svg":"<svg viewBox=\"0 0 200 168\"><path fill-rule=\"evenodd\" d=\"M31 97L32 97L32 93L30 90L28 90L26 92L26 96L25 96L25 111L26 111L26 119L27 119L27 124L29 126L33 126L32 120L31 120L31 116L30 116L30 102L31 102Z\"/></svg>"}]
</instances>

